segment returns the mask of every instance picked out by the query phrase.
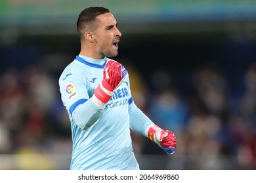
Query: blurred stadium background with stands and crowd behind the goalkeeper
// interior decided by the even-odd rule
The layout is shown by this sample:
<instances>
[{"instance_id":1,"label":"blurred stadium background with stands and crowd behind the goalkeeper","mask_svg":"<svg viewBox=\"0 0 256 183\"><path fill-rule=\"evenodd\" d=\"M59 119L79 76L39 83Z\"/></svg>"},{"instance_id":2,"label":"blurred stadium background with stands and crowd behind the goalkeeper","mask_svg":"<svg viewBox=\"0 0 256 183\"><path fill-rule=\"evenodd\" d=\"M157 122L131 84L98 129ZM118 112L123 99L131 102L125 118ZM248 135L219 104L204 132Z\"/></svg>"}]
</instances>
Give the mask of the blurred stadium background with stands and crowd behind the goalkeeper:
<instances>
[{"instance_id":1,"label":"blurred stadium background with stands and crowd behind the goalkeeper","mask_svg":"<svg viewBox=\"0 0 256 183\"><path fill-rule=\"evenodd\" d=\"M177 135L167 156L131 131L141 169L256 169L254 0L1 0L0 169L69 169L58 76L89 6L110 8L135 102Z\"/></svg>"}]
</instances>

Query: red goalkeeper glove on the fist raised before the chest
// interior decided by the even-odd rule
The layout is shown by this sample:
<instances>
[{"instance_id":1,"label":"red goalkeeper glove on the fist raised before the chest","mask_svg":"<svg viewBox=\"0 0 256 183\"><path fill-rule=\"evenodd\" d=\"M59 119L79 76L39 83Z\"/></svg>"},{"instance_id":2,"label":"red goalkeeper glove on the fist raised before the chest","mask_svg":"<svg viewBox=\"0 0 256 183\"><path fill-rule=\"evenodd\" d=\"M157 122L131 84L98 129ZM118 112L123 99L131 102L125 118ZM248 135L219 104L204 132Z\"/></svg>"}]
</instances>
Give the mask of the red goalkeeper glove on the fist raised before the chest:
<instances>
[{"instance_id":1,"label":"red goalkeeper glove on the fist raised before the chest","mask_svg":"<svg viewBox=\"0 0 256 183\"><path fill-rule=\"evenodd\" d=\"M114 90L123 82L126 76L128 76L128 72L123 65L114 60L108 61L103 69L102 82L95 89L93 101L98 105L108 103Z\"/></svg>"}]
</instances>

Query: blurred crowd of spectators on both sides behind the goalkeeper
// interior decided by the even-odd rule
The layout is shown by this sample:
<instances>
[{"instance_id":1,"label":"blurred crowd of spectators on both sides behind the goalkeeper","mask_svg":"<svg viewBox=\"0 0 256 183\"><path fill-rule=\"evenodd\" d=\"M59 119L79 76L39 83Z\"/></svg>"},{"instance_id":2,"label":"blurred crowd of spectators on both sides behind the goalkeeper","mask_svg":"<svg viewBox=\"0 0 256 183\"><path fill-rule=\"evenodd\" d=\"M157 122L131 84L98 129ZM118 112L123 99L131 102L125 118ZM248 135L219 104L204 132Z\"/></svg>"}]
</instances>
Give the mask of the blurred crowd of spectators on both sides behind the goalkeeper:
<instances>
[{"instance_id":1,"label":"blurred crowd of spectators on both sides behind the goalkeeper","mask_svg":"<svg viewBox=\"0 0 256 183\"><path fill-rule=\"evenodd\" d=\"M243 73L239 95L217 67L194 69L184 92L166 70L156 68L144 78L132 62L123 64L135 103L177 136L177 150L167 156L131 131L141 169L256 169L256 63ZM58 75L40 64L4 69L0 73L1 169L68 169L70 159L57 161L61 166L53 162L62 155L69 158L71 151L70 121L60 100ZM52 159L43 154L53 155ZM4 160L14 155L26 158Z\"/></svg>"}]
</instances>

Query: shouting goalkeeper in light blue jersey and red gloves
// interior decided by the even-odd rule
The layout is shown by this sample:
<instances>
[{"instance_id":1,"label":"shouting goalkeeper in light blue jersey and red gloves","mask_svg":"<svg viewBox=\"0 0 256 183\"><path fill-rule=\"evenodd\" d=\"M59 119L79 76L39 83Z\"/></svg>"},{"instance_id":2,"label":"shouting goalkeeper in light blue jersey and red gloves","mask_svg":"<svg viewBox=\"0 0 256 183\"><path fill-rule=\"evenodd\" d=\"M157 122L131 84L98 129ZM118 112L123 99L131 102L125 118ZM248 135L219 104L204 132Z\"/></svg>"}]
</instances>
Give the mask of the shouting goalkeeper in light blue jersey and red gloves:
<instances>
[{"instance_id":1,"label":"shouting goalkeeper in light blue jersey and red gloves","mask_svg":"<svg viewBox=\"0 0 256 183\"><path fill-rule=\"evenodd\" d=\"M78 16L81 50L62 72L59 86L70 118L70 169L139 169L130 128L173 154L173 132L154 124L134 103L128 72L117 61L121 37L104 7L85 8Z\"/></svg>"}]
</instances>

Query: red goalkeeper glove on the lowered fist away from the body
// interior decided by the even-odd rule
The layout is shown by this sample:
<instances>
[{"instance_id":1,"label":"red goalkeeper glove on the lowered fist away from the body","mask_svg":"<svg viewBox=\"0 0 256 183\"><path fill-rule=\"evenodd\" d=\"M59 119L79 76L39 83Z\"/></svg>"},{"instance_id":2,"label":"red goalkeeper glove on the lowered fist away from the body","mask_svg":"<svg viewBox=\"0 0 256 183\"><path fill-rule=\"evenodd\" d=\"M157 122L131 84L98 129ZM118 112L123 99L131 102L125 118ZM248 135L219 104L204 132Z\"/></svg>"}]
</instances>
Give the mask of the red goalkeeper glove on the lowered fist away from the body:
<instances>
[{"instance_id":1,"label":"red goalkeeper glove on the lowered fist away from the body","mask_svg":"<svg viewBox=\"0 0 256 183\"><path fill-rule=\"evenodd\" d=\"M167 154L173 154L176 148L176 137L173 132L152 125L147 131L148 138L158 144Z\"/></svg>"}]
</instances>

